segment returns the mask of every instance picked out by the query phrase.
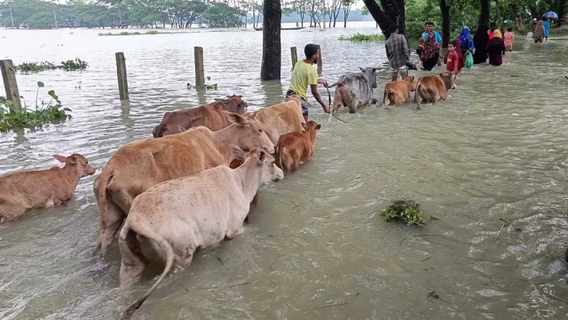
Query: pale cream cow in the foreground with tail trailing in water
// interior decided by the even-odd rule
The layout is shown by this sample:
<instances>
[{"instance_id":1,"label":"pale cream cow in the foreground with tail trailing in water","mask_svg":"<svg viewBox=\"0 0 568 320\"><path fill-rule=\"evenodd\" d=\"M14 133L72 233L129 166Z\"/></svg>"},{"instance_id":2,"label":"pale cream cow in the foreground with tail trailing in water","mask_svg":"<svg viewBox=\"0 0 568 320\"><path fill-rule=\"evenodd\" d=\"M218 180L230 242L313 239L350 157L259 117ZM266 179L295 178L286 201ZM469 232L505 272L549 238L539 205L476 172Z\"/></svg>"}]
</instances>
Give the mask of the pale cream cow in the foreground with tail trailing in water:
<instances>
[{"instance_id":1,"label":"pale cream cow in the foreground with tail trailing in water","mask_svg":"<svg viewBox=\"0 0 568 320\"><path fill-rule=\"evenodd\" d=\"M134 200L119 237L120 282L138 282L156 255L165 260L165 268L153 287L124 311L123 319L140 308L173 265L187 267L196 250L217 247L224 239L241 234L258 188L284 177L265 151L253 149L244 154L237 146L231 148L238 159L246 156L239 168L217 166L166 181Z\"/></svg>"}]
</instances>

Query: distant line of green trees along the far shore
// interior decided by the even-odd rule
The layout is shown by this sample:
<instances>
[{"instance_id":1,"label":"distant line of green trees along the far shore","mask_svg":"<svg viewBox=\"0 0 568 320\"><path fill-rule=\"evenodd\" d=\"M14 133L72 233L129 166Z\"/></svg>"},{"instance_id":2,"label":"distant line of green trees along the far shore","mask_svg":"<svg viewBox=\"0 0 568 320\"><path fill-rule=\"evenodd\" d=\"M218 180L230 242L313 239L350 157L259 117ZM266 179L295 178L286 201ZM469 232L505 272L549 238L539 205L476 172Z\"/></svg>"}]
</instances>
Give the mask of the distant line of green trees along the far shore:
<instances>
[{"instance_id":1,"label":"distant line of green trees along the far shore","mask_svg":"<svg viewBox=\"0 0 568 320\"><path fill-rule=\"evenodd\" d=\"M335 21L372 21L354 0L294 0L283 3L282 22L330 26ZM325 3L326 6L322 5ZM263 23L262 0L43 0L0 3L0 26L11 28L240 28ZM329 21L333 21L330 23Z\"/></svg>"}]
</instances>

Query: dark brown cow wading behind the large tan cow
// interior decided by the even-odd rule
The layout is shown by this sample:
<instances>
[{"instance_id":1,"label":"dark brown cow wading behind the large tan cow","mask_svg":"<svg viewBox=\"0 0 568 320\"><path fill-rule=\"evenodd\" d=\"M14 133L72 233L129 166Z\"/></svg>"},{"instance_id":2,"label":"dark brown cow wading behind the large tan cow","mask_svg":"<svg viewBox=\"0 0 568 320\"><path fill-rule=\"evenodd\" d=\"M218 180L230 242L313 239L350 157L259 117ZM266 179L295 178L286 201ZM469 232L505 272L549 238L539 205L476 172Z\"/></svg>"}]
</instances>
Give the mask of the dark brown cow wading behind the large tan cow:
<instances>
[{"instance_id":1,"label":"dark brown cow wading behind the large tan cow","mask_svg":"<svg viewBox=\"0 0 568 320\"><path fill-rule=\"evenodd\" d=\"M242 100L241 95L227 96L228 99L215 99L215 102L200 107L165 112L162 122L155 127L154 138L163 137L167 134L178 134L187 129L197 126L209 128L211 131L219 131L229 127L231 122L223 114L223 110L236 114L244 114L249 105Z\"/></svg>"}]
</instances>

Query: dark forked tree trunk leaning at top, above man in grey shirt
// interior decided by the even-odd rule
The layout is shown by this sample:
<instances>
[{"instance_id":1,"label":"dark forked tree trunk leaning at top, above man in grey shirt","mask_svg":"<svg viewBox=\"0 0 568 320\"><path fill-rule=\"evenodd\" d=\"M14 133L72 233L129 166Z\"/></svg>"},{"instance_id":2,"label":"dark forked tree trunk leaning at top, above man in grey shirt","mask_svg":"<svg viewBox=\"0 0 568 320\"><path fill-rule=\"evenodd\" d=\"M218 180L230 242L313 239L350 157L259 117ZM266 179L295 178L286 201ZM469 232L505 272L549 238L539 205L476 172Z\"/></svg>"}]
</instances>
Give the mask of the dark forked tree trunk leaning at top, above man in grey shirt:
<instances>
[{"instance_id":1,"label":"dark forked tree trunk leaning at top, above man in grey shirt","mask_svg":"<svg viewBox=\"0 0 568 320\"><path fill-rule=\"evenodd\" d=\"M400 33L406 35L404 0L381 0L381 6L375 0L363 0L368 12L373 16L386 38L391 36L391 24L400 26Z\"/></svg>"}]
</instances>

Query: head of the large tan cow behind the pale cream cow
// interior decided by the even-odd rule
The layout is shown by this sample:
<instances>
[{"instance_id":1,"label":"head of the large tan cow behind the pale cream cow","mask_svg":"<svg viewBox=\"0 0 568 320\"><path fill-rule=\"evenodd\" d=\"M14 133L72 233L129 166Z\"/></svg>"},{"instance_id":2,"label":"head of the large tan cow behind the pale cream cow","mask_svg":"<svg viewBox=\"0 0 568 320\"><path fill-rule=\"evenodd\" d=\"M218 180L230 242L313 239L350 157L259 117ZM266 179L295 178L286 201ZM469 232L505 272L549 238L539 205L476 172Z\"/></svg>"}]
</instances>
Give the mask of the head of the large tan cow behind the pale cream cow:
<instances>
[{"instance_id":1,"label":"head of the large tan cow behind the pale cream cow","mask_svg":"<svg viewBox=\"0 0 568 320\"><path fill-rule=\"evenodd\" d=\"M256 118L256 113L244 117L241 114L233 112L223 112L229 118L229 121L233 122L231 126L236 128L234 134L236 144L241 149L251 150L260 148L271 154L274 153L274 144L271 142L271 139L268 138L266 132L264 132L261 122Z\"/></svg>"}]
</instances>

